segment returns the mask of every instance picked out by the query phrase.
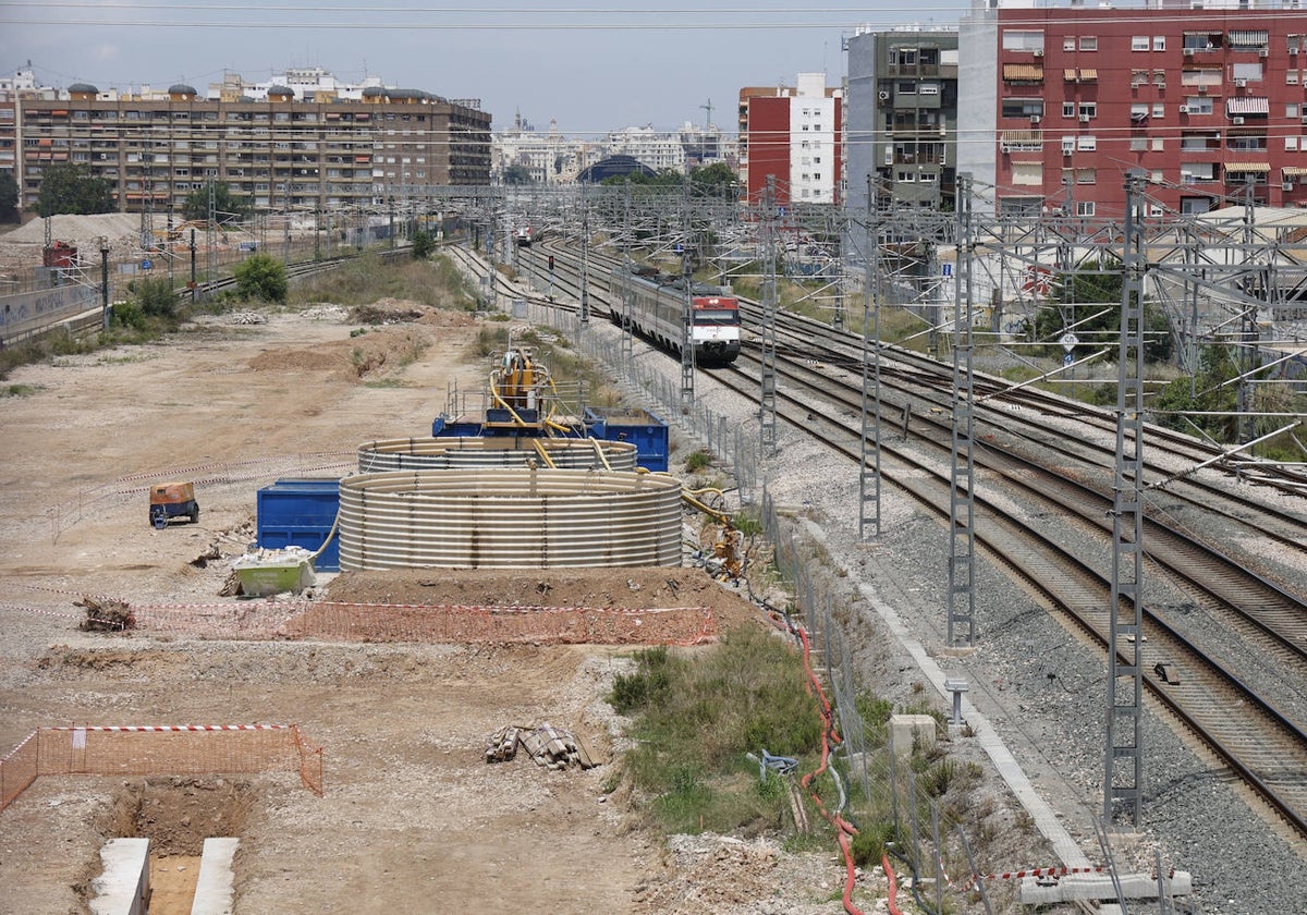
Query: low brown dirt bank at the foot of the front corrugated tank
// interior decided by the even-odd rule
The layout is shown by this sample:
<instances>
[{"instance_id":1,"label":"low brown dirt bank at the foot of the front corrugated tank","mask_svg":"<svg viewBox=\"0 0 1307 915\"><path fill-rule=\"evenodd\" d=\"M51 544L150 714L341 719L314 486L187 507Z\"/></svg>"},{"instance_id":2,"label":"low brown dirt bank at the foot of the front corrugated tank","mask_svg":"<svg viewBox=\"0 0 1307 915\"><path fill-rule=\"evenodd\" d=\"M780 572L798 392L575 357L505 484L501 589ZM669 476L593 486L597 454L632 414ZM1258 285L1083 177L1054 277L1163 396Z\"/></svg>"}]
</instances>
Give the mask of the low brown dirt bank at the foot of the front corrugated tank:
<instances>
[{"instance_id":1,"label":"low brown dirt bank at the foot of the front corrugated tank","mask_svg":"<svg viewBox=\"0 0 1307 915\"><path fill-rule=\"evenodd\" d=\"M423 607L702 607L724 627L762 620L745 597L699 569L395 569L342 573L324 596L341 603Z\"/></svg>"}]
</instances>

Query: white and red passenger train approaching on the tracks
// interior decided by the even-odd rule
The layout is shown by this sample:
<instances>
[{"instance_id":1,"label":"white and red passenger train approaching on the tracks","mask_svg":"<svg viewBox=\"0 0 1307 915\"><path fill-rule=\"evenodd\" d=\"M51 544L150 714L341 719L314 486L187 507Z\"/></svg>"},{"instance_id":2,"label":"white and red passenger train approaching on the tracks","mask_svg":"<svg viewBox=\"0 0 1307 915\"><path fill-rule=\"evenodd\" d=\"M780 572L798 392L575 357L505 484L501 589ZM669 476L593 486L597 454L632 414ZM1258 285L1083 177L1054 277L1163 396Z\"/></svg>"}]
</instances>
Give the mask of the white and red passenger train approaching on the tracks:
<instances>
[{"instance_id":1,"label":"white and red passenger train approaching on the tracks","mask_svg":"<svg viewBox=\"0 0 1307 915\"><path fill-rule=\"evenodd\" d=\"M609 278L612 318L621 323L631 310L637 332L657 345L681 352L685 341L686 280L651 268L617 269ZM690 312L694 358L704 366L724 366L740 356L740 302L719 286L691 281Z\"/></svg>"}]
</instances>

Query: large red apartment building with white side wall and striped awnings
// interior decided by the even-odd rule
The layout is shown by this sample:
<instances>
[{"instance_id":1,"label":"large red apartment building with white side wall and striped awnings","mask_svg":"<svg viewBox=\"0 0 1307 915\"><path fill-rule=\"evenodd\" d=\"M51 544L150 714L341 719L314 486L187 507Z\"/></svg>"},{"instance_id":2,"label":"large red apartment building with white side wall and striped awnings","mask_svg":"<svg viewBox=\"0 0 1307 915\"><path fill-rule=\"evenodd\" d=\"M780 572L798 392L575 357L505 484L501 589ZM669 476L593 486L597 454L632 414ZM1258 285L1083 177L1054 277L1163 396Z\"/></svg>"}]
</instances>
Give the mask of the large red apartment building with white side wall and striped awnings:
<instances>
[{"instance_id":1,"label":"large red apartment building with white side wall and striped awnings","mask_svg":"<svg viewBox=\"0 0 1307 915\"><path fill-rule=\"evenodd\" d=\"M1151 214L1243 203L1249 182L1257 204L1307 205L1304 10L1000 5L961 44L958 170L992 179L1000 212L1119 217L1128 170Z\"/></svg>"}]
</instances>

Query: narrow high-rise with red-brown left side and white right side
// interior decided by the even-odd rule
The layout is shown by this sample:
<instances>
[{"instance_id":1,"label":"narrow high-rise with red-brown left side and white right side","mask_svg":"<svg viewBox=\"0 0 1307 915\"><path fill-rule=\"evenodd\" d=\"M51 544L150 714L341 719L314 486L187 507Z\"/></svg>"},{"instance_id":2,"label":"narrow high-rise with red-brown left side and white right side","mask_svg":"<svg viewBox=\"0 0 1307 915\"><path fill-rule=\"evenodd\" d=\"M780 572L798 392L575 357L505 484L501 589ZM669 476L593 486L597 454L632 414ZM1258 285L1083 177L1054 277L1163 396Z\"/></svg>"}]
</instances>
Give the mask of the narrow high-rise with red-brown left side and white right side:
<instances>
[{"instance_id":1,"label":"narrow high-rise with red-brown left side and white right side","mask_svg":"<svg viewBox=\"0 0 1307 915\"><path fill-rule=\"evenodd\" d=\"M778 205L842 201L843 95L826 86L825 73L740 90L740 183L750 204L762 199L769 176Z\"/></svg>"}]
</instances>

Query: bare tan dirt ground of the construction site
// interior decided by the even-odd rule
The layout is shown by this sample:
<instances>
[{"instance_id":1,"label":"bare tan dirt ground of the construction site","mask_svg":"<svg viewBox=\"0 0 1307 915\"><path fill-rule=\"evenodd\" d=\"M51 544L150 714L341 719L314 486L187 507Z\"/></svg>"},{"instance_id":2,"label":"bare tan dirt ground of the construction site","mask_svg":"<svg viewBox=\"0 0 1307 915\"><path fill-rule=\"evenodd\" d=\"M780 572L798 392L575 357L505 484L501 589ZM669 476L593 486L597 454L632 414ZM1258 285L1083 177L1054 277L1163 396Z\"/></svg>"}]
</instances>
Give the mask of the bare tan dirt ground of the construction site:
<instances>
[{"instance_id":1,"label":"bare tan dirt ground of the construction site","mask_svg":"<svg viewBox=\"0 0 1307 915\"><path fill-rule=\"evenodd\" d=\"M601 697L627 663L617 648L78 631L78 593L216 600L252 537L259 486L348 472L361 442L429 434L450 382L484 384L465 316L358 327L339 308L204 319L8 379L27 392L0 399L0 753L51 724L297 723L324 748L325 796L291 774L38 779L0 813L0 912L89 911L101 844L118 835L150 835L166 856L156 915L190 911L207 835L240 838L237 912L840 911L833 855L766 839L669 850L631 822L609 793L621 739ZM148 524L145 486L163 478L196 481L197 525ZM728 624L754 617L694 570L427 570L325 588L422 603L540 603L544 588L554 605L664 607L674 591ZM497 728L542 722L574 729L601 765L486 765Z\"/></svg>"}]
</instances>

